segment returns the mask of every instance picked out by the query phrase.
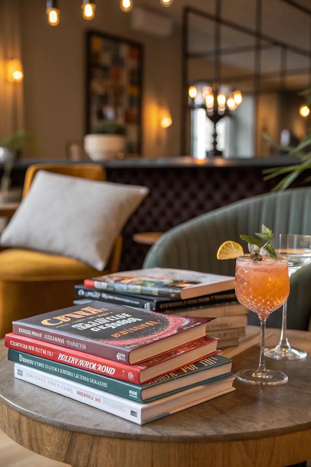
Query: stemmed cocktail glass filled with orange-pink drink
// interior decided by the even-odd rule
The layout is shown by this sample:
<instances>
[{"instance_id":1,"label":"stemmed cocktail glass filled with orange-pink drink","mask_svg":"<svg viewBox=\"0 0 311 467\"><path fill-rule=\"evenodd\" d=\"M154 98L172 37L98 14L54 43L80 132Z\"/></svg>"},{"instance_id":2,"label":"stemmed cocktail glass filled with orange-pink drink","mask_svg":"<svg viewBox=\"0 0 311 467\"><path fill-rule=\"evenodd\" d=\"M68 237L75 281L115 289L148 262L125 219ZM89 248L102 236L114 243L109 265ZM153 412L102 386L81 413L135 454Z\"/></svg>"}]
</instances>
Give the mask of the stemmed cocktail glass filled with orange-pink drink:
<instances>
[{"instance_id":1,"label":"stemmed cocktail glass filled with orange-pink drink","mask_svg":"<svg viewBox=\"0 0 311 467\"><path fill-rule=\"evenodd\" d=\"M258 369L240 370L236 377L251 384L283 384L288 378L281 371L267 370L264 364L264 331L266 319L285 303L290 293L290 279L286 256L251 255L236 258L235 294L238 301L254 311L261 324L260 358Z\"/></svg>"}]
</instances>

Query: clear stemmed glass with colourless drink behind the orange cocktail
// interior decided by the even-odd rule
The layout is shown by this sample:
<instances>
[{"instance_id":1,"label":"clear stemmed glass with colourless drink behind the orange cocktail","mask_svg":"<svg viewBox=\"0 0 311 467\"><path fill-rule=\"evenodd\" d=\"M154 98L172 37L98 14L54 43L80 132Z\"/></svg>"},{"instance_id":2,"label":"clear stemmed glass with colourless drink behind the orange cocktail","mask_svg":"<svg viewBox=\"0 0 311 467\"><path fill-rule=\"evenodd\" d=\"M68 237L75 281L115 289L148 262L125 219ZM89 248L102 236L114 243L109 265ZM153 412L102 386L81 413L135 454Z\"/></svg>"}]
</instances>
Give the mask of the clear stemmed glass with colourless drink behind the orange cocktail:
<instances>
[{"instance_id":1,"label":"clear stemmed glass with colourless drink behind the orange cocktail","mask_svg":"<svg viewBox=\"0 0 311 467\"><path fill-rule=\"evenodd\" d=\"M272 244L277 254L288 258L288 271L291 277L298 269L311 263L311 235L273 235ZM287 301L283 304L282 331L277 346L265 348L267 357L277 360L299 360L307 356L304 350L293 348L286 337Z\"/></svg>"}]
</instances>

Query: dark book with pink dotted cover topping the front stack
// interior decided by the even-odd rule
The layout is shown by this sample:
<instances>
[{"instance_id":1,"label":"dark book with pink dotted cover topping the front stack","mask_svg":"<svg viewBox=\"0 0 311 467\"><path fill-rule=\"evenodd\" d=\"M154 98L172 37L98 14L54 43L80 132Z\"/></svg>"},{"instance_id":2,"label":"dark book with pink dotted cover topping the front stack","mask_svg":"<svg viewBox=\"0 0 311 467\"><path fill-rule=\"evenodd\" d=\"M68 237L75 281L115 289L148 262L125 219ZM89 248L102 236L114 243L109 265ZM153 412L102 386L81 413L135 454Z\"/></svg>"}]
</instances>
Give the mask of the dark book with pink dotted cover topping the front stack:
<instances>
[{"instance_id":1,"label":"dark book with pink dotted cover topping the front stack","mask_svg":"<svg viewBox=\"0 0 311 467\"><path fill-rule=\"evenodd\" d=\"M132 365L200 339L212 319L91 302L14 321L13 333Z\"/></svg>"}]
</instances>

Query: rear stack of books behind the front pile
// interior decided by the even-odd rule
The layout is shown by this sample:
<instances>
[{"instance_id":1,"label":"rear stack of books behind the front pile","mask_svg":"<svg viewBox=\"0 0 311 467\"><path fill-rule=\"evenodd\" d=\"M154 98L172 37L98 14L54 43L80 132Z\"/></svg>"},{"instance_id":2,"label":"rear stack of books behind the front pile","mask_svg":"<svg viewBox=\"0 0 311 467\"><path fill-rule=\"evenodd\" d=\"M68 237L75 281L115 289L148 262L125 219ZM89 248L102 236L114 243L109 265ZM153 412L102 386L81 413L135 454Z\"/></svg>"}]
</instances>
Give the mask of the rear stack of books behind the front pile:
<instances>
[{"instance_id":1,"label":"rear stack of books behind the front pile","mask_svg":"<svg viewBox=\"0 0 311 467\"><path fill-rule=\"evenodd\" d=\"M123 304L180 316L214 317L207 332L218 348L245 339L248 310L235 297L234 277L182 269L151 268L86 279L75 295L87 300ZM78 303L78 302L75 302Z\"/></svg>"}]
</instances>

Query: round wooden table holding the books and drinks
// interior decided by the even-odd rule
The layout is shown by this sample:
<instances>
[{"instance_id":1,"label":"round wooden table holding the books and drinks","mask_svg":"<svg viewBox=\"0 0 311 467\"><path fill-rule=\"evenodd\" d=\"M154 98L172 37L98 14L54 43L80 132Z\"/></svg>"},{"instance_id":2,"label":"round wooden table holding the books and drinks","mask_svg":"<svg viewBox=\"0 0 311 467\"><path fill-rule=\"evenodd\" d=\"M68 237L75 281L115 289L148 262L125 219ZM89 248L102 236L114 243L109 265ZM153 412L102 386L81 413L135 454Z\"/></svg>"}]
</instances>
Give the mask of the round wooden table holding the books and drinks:
<instances>
[{"instance_id":1,"label":"round wooden table holding the books and drinks","mask_svg":"<svg viewBox=\"0 0 311 467\"><path fill-rule=\"evenodd\" d=\"M311 352L311 333L289 337ZM233 370L257 362L252 347L235 356ZM289 382L235 381L234 392L139 426L14 379L2 343L0 427L22 446L74 467L281 467L311 459L311 354L266 364Z\"/></svg>"}]
</instances>

